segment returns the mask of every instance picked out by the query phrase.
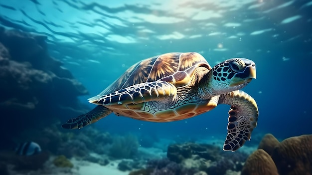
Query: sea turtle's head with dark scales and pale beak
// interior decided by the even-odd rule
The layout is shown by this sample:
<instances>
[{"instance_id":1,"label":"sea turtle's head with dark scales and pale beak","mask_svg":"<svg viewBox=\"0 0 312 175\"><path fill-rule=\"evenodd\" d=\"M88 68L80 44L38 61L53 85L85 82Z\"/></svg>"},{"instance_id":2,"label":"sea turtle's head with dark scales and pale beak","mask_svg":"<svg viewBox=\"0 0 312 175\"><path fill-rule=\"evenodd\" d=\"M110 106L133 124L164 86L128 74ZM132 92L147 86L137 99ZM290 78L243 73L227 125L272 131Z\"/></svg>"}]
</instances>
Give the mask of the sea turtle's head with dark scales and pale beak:
<instances>
[{"instance_id":1,"label":"sea turtle's head with dark scales and pale beak","mask_svg":"<svg viewBox=\"0 0 312 175\"><path fill-rule=\"evenodd\" d=\"M246 86L256 78L256 64L245 58L227 59L211 69L211 87L216 94L224 94Z\"/></svg>"}]
</instances>

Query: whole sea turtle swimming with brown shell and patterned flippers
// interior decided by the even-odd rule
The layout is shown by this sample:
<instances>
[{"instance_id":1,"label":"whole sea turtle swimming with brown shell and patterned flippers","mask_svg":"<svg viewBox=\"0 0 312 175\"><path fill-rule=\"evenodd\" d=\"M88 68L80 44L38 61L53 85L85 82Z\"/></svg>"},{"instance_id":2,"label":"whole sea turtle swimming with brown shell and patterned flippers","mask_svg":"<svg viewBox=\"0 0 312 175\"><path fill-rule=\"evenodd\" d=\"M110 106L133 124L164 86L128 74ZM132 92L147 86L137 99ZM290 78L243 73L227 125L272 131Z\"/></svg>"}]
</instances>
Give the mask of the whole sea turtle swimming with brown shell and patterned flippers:
<instances>
[{"instance_id":1,"label":"whole sea turtle swimming with brown shell and patterned flippers","mask_svg":"<svg viewBox=\"0 0 312 175\"><path fill-rule=\"evenodd\" d=\"M253 78L256 67L249 59L227 59L212 68L196 52L158 55L130 67L99 95L88 99L98 106L62 127L80 129L112 112L138 120L170 122L229 104L223 150L236 151L250 140L257 125L256 101L239 90Z\"/></svg>"}]
</instances>

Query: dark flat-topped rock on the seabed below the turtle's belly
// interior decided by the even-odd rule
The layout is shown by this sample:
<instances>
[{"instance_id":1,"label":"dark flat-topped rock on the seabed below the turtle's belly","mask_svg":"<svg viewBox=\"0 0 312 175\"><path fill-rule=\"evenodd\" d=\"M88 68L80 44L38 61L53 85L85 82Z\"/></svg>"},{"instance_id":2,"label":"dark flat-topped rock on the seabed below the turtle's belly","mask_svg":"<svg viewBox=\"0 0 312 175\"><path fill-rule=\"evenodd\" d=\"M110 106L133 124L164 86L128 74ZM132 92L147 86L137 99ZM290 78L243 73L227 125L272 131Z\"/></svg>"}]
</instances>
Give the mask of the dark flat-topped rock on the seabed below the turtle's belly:
<instances>
[{"instance_id":1,"label":"dark flat-topped rock on the seabed below the turtle's belly","mask_svg":"<svg viewBox=\"0 0 312 175\"><path fill-rule=\"evenodd\" d=\"M168 146L167 158L170 161L181 163L185 159L189 159L192 155L198 155L200 158L215 161L220 156L220 148L208 144L173 144Z\"/></svg>"}]
</instances>

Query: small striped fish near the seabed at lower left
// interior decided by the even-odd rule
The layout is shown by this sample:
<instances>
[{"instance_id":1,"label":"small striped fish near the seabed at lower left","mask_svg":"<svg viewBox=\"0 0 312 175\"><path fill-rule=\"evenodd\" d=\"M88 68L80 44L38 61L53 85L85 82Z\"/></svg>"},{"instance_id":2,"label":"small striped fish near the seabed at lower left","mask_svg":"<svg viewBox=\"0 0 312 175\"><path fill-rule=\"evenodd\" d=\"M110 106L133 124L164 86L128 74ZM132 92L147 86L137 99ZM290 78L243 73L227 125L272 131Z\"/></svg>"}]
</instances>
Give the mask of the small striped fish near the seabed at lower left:
<instances>
[{"instance_id":1,"label":"small striped fish near the seabed at lower left","mask_svg":"<svg viewBox=\"0 0 312 175\"><path fill-rule=\"evenodd\" d=\"M37 143L25 142L25 143L19 144L15 152L17 155L31 156L31 155L36 155L40 153L41 148Z\"/></svg>"}]
</instances>

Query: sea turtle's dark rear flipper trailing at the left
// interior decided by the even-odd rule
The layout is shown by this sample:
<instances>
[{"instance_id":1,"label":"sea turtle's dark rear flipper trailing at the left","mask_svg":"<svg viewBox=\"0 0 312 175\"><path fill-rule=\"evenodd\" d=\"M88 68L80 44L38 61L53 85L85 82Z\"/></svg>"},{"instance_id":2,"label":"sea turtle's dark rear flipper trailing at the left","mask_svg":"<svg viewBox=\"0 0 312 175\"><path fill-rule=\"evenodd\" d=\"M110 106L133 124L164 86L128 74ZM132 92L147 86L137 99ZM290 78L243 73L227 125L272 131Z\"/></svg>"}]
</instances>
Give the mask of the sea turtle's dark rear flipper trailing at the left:
<instances>
[{"instance_id":1,"label":"sea turtle's dark rear flipper trailing at the left","mask_svg":"<svg viewBox=\"0 0 312 175\"><path fill-rule=\"evenodd\" d=\"M108 116L112 111L104 106L97 106L92 111L80 115L76 118L69 119L62 125L64 129L80 129L86 125L97 122L98 120Z\"/></svg>"}]
</instances>

